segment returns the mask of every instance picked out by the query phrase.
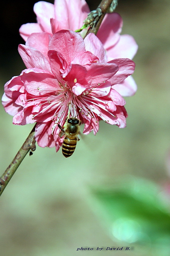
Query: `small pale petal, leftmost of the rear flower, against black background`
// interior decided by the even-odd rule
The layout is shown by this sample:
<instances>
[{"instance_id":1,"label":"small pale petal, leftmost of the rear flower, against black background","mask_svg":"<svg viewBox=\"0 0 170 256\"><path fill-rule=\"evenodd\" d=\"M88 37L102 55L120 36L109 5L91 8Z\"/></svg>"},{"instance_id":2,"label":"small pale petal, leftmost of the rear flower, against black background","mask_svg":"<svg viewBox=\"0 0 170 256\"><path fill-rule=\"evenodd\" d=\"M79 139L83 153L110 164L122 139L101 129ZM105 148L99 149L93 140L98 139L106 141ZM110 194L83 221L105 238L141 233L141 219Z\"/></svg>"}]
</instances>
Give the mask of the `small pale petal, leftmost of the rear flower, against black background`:
<instances>
[{"instance_id":1,"label":"small pale petal, leftmost of the rear flower, against black background","mask_svg":"<svg viewBox=\"0 0 170 256\"><path fill-rule=\"evenodd\" d=\"M23 24L20 29L19 33L20 36L26 41L27 38L32 34L32 33L40 33L43 32L41 29L40 25L38 23L27 23Z\"/></svg>"}]
</instances>

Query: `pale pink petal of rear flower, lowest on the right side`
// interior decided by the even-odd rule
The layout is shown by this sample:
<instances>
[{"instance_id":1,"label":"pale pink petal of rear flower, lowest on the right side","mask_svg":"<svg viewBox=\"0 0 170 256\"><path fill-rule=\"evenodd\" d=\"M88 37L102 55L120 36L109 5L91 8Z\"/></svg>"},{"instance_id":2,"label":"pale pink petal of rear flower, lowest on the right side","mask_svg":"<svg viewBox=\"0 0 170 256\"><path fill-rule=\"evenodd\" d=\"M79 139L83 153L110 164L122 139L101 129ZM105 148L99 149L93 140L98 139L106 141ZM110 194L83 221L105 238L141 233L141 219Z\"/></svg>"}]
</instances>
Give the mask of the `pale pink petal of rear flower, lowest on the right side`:
<instances>
[{"instance_id":1,"label":"pale pink petal of rear flower, lowest on the right side","mask_svg":"<svg viewBox=\"0 0 170 256\"><path fill-rule=\"evenodd\" d=\"M113 88L123 97L133 96L137 90L137 85L132 76L127 77L123 82L115 84Z\"/></svg>"}]
</instances>

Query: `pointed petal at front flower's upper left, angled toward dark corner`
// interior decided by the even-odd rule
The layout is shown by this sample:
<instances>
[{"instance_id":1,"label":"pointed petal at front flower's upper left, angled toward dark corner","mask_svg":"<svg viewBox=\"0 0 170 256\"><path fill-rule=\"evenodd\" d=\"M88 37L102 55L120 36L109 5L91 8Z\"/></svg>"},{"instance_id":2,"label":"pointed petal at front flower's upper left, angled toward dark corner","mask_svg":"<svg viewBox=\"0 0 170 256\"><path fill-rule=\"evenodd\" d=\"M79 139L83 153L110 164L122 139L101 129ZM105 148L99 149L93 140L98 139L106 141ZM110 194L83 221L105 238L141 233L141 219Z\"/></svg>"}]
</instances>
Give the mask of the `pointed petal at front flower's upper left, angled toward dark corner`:
<instances>
[{"instance_id":1,"label":"pointed petal at front flower's upper left, angled toward dark corner","mask_svg":"<svg viewBox=\"0 0 170 256\"><path fill-rule=\"evenodd\" d=\"M38 50L25 45L18 46L19 54L27 68L39 68L51 71L50 64Z\"/></svg>"}]
</instances>

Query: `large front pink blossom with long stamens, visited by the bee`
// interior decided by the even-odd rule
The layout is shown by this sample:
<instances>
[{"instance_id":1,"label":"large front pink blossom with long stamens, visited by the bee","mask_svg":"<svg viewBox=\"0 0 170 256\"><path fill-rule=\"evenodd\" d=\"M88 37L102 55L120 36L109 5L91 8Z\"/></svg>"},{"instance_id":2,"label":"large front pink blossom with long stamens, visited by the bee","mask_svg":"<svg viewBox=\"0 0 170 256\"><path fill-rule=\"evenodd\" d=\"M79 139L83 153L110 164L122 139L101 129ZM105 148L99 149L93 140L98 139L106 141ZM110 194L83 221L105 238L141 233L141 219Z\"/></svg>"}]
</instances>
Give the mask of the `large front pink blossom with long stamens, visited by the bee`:
<instances>
[{"instance_id":1,"label":"large front pink blossom with long stamens, visited by the bee","mask_svg":"<svg viewBox=\"0 0 170 256\"><path fill-rule=\"evenodd\" d=\"M84 123L84 134L98 131L99 120L126 126L125 101L115 84L131 75L130 59L106 62L100 40L89 34L84 40L71 30L60 30L49 42L48 60L37 49L19 45L25 63L20 76L5 84L2 101L13 124L36 124L39 146L59 150L58 135L67 118L77 116Z\"/></svg>"}]
</instances>

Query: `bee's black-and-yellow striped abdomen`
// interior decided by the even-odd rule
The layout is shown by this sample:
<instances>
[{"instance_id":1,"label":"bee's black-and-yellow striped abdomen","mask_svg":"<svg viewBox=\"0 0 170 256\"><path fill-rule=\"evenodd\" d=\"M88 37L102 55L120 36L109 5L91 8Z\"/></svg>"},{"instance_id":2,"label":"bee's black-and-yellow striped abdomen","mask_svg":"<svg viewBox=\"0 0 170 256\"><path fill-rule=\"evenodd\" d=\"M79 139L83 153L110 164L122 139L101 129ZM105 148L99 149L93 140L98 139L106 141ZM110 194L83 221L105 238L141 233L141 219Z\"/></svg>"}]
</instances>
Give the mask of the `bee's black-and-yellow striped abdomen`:
<instances>
[{"instance_id":1,"label":"bee's black-and-yellow striped abdomen","mask_svg":"<svg viewBox=\"0 0 170 256\"><path fill-rule=\"evenodd\" d=\"M76 148L77 138L68 138L67 136L64 138L62 145L62 153L65 157L69 157L74 153Z\"/></svg>"}]
</instances>

